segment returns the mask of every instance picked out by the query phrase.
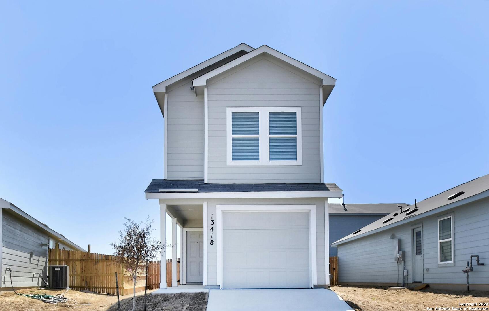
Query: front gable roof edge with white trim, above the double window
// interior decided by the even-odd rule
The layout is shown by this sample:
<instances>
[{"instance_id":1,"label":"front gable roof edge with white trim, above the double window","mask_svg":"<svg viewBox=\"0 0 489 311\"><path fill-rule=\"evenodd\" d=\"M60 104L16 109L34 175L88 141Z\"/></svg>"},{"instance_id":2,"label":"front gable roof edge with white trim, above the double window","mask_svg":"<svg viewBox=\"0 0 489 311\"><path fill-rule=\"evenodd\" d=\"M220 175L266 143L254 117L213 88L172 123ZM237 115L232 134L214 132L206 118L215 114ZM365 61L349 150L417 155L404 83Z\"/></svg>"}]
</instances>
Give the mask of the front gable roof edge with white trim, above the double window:
<instances>
[{"instance_id":1,"label":"front gable roof edge with white trim, above the double window","mask_svg":"<svg viewBox=\"0 0 489 311\"><path fill-rule=\"evenodd\" d=\"M301 63L298 60L293 59L290 56L269 47L268 45L262 45L256 49L250 51L249 53L247 53L247 54L245 54L245 55L243 55L243 56L241 56L241 57L239 57L239 58L237 58L237 59L235 59L235 60L233 60L227 64L224 64L220 67L217 67L214 70L211 70L207 73L204 73L200 77L197 77L194 80L192 80L192 84L194 85L194 89L195 89L196 94L197 95L203 94L203 89L207 85L207 81L209 79L211 79L212 77L215 77L216 75L218 75L224 71L227 71L227 70L229 70L233 67L236 67L240 64L243 64L244 62L246 62L246 61L248 61L254 57L257 57L258 55L261 55L263 53L274 56L274 57L290 64L291 66L296 67L303 72L309 73L312 76L317 77L319 80L321 80L321 84L323 87L323 105L324 105L324 103L328 99L329 95L331 94L331 91L333 90L333 87L336 83L336 79L327 75L326 73L323 73L317 69L314 69L314 68L312 68L312 67L310 67L304 63Z\"/></svg>"}]
</instances>

